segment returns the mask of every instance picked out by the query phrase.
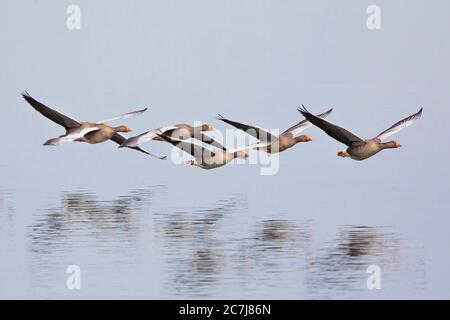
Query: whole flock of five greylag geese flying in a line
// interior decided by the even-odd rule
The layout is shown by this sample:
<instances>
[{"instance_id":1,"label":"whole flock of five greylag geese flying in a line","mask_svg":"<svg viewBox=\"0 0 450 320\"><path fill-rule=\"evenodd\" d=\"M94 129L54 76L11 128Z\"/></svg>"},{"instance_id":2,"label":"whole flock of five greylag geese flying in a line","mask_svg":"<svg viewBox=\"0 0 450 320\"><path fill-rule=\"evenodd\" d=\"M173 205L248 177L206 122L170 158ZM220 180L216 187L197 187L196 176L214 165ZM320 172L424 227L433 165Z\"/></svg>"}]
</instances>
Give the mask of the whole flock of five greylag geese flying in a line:
<instances>
[{"instance_id":1,"label":"whole flock of five greylag geese flying in a line","mask_svg":"<svg viewBox=\"0 0 450 320\"><path fill-rule=\"evenodd\" d=\"M292 148L297 143L312 141L311 136L300 133L313 125L323 130L333 139L347 146L345 151L339 151L337 153L339 157L349 157L353 160L365 160L384 149L401 147L401 144L397 141L383 142L383 140L412 125L419 120L422 115L421 108L417 113L398 121L371 139L360 138L349 130L328 121L327 118L333 109L318 115L313 115L302 105L298 111L305 119L290 127L278 136L263 128L242 122L232 121L222 115L219 115L217 117L218 120L223 121L258 140L255 144L247 145L239 149L229 150L222 143L205 134L205 132L215 130L210 124L203 124L197 127L192 127L185 123L173 126L163 126L127 139L121 133L130 132L132 129L125 125L112 127L106 123L141 115L147 110L147 108L128 112L102 121L78 122L37 101L26 91L22 93L22 97L35 110L40 112L46 118L61 125L66 130L65 134L47 140L44 145L60 146L73 141L97 144L107 140L112 140L118 144L119 148L131 148L164 160L166 159L166 156L154 155L142 147L144 143L151 140L163 141L170 143L174 147L179 148L191 155L193 159L188 161L187 164L197 166L202 169L218 168L226 165L235 158L245 159L249 156L248 151L250 149L256 149L273 154Z\"/></svg>"}]
</instances>

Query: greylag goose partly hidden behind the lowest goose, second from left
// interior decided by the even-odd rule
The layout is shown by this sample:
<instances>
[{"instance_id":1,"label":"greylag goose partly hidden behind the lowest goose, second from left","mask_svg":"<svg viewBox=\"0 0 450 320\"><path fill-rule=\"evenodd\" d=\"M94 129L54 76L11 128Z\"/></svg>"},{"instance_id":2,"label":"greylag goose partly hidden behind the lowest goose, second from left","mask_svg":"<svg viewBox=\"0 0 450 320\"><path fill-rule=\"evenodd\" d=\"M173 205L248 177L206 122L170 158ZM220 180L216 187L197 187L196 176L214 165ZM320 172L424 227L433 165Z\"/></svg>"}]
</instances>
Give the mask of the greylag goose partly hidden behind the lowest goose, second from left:
<instances>
[{"instance_id":1,"label":"greylag goose partly hidden behind the lowest goose, second from left","mask_svg":"<svg viewBox=\"0 0 450 320\"><path fill-rule=\"evenodd\" d=\"M131 138L125 140L119 146L119 148L139 147L142 144L144 144L150 140L165 141L165 140L161 139L156 132L166 133L168 136L171 136L173 138L186 140L189 138L194 138L195 136L199 135L203 131L212 131L212 130L214 130L214 127L210 124L203 124L203 125L197 126L197 127L190 126L186 123L176 124L174 126L161 127L161 128L157 128L154 130L146 131L144 133L141 133L140 135L131 137Z\"/></svg>"}]
</instances>

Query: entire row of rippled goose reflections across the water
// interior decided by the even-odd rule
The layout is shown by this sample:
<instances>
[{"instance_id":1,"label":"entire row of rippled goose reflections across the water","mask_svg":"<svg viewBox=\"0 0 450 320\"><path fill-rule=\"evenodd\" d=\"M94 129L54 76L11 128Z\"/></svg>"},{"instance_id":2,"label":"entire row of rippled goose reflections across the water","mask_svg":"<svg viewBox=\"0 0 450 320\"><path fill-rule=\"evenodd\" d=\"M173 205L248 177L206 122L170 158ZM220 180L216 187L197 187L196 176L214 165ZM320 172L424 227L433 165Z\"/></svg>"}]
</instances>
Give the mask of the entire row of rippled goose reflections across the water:
<instances>
[{"instance_id":1,"label":"entire row of rippled goose reflections across the water","mask_svg":"<svg viewBox=\"0 0 450 320\"><path fill-rule=\"evenodd\" d=\"M246 194L174 207L166 193L155 187L112 200L63 193L29 228L35 286L54 283L55 274L65 283L61 270L81 261L86 274L114 279L117 292L130 296L138 292L130 288L151 290L156 279L158 298L354 298L368 292L371 264L391 286L417 280L423 288L420 251L413 248L411 258L410 242L389 228L338 226L327 241L313 220L247 217ZM408 267L419 273L405 273Z\"/></svg>"}]
</instances>

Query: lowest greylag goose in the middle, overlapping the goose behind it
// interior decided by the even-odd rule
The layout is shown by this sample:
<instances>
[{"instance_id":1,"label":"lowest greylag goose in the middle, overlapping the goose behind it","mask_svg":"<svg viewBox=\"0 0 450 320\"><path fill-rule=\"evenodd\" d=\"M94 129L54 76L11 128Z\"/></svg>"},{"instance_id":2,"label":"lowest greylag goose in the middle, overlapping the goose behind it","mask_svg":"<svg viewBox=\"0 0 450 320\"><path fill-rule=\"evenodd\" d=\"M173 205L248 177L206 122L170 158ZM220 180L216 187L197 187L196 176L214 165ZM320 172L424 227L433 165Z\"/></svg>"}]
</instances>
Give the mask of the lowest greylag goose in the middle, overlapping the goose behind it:
<instances>
[{"instance_id":1,"label":"lowest greylag goose in the middle, overlapping the goose behind it","mask_svg":"<svg viewBox=\"0 0 450 320\"><path fill-rule=\"evenodd\" d=\"M202 140L193 139L193 141L174 138L166 133L157 133L157 135L162 140L171 143L175 147L194 157L193 160L186 162L186 164L207 170L222 167L235 158L248 158L247 150L252 147L247 146L245 148L229 151L220 142L217 142L205 134L202 134ZM213 146L214 149L210 150L199 142L205 142Z\"/></svg>"}]
</instances>

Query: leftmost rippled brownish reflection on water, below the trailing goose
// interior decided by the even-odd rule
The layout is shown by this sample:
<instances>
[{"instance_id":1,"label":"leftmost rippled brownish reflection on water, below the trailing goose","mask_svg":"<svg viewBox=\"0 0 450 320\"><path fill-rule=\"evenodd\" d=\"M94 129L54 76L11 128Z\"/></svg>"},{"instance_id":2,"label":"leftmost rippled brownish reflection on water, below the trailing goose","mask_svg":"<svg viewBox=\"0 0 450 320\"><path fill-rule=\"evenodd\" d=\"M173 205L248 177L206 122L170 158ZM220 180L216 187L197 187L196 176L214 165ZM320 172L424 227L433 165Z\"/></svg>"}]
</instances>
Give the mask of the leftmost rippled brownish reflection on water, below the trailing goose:
<instances>
[{"instance_id":1,"label":"leftmost rippled brownish reflection on water, below the trailing goose","mask_svg":"<svg viewBox=\"0 0 450 320\"><path fill-rule=\"evenodd\" d=\"M100 200L85 191L63 193L60 205L44 210L31 225L28 234L31 248L49 253L67 250L77 246L77 240L89 239L130 243L141 228L134 213L148 206L151 199L152 191L146 189L113 200Z\"/></svg>"}]
</instances>

